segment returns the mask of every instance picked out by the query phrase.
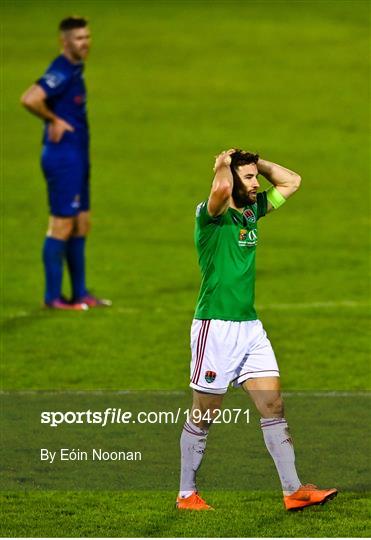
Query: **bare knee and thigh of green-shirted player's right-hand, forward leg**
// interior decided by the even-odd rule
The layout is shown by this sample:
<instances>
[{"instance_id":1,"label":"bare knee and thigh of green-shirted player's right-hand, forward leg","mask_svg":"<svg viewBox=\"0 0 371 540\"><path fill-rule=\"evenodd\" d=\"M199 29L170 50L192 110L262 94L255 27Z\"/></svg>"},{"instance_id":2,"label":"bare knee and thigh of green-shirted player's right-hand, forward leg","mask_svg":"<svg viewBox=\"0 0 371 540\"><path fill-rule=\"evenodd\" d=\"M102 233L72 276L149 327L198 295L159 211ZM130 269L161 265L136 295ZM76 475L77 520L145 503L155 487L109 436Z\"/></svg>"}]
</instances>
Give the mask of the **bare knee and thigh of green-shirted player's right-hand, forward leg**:
<instances>
[{"instance_id":1,"label":"bare knee and thigh of green-shirted player's right-hand, forward leg","mask_svg":"<svg viewBox=\"0 0 371 540\"><path fill-rule=\"evenodd\" d=\"M242 383L263 418L284 416L283 399L279 377L257 377Z\"/></svg>"}]
</instances>

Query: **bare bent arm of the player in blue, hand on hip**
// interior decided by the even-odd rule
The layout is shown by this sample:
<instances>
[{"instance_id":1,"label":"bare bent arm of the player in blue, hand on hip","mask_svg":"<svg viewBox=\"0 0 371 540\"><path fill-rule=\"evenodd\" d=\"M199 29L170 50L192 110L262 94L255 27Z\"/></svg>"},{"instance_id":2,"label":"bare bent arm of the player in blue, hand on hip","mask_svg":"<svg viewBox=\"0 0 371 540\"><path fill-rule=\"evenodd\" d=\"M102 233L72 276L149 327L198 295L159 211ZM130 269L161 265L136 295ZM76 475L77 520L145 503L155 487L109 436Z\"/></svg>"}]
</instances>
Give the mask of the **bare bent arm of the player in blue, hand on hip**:
<instances>
[{"instance_id":1,"label":"bare bent arm of the player in blue, hand on hip","mask_svg":"<svg viewBox=\"0 0 371 540\"><path fill-rule=\"evenodd\" d=\"M21 103L31 113L49 122L48 136L52 142L58 143L65 131L74 131L73 126L59 118L46 104L46 92L38 84L33 84L21 97Z\"/></svg>"}]
</instances>

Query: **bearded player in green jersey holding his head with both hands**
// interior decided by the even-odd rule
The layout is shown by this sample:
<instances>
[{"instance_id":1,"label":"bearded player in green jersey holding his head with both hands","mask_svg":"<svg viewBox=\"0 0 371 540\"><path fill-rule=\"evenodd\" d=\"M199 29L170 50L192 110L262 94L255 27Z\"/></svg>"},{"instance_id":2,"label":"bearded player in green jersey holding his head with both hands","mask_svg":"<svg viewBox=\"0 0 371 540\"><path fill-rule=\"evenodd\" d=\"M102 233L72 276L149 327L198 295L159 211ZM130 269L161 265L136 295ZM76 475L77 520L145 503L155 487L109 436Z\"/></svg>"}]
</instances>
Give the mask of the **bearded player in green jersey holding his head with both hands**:
<instances>
[{"instance_id":1,"label":"bearded player in green jersey holding his head with both hands","mask_svg":"<svg viewBox=\"0 0 371 540\"><path fill-rule=\"evenodd\" d=\"M177 507L210 510L199 496L196 473L212 418L228 385L242 386L261 414L268 452L276 465L287 510L323 504L336 489L302 485L284 418L277 361L254 308L258 220L300 186L300 176L256 154L228 150L217 156L207 201L196 210L195 243L202 282L191 329L192 415L183 427ZM272 186L258 193L258 176Z\"/></svg>"}]
</instances>

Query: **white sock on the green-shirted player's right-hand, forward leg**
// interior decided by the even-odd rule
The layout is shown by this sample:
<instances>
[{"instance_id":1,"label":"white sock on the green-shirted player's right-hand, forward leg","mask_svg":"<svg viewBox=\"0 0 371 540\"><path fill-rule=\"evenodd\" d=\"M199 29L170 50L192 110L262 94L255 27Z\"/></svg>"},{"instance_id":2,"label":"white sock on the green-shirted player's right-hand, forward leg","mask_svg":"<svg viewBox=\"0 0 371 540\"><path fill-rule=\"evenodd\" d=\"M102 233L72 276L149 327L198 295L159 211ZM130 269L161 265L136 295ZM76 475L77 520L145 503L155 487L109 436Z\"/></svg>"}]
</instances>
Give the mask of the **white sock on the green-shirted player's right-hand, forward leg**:
<instances>
[{"instance_id":1,"label":"white sock on the green-shirted player's right-hand, forward leg","mask_svg":"<svg viewBox=\"0 0 371 540\"><path fill-rule=\"evenodd\" d=\"M287 422L284 418L261 418L265 445L276 465L282 490L290 495L299 489L301 482L295 468L295 453Z\"/></svg>"}]
</instances>

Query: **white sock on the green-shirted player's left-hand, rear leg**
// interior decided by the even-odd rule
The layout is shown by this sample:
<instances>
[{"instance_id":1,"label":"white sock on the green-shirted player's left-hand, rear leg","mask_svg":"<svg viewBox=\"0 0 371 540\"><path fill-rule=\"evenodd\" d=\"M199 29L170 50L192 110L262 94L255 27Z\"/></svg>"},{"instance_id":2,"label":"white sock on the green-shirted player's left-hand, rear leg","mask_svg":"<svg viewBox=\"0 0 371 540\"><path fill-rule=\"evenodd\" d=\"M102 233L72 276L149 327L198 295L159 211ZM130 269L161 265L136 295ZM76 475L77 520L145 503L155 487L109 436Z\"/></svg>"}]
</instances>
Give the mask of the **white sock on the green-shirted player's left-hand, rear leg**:
<instances>
[{"instance_id":1,"label":"white sock on the green-shirted player's left-hand, rear leg","mask_svg":"<svg viewBox=\"0 0 371 540\"><path fill-rule=\"evenodd\" d=\"M191 421L183 426L180 437L180 490L179 497L189 497L196 488L196 472L201 465L206 448L208 431Z\"/></svg>"}]
</instances>

